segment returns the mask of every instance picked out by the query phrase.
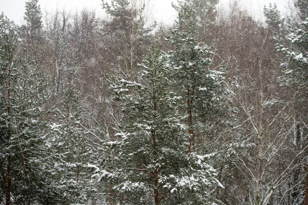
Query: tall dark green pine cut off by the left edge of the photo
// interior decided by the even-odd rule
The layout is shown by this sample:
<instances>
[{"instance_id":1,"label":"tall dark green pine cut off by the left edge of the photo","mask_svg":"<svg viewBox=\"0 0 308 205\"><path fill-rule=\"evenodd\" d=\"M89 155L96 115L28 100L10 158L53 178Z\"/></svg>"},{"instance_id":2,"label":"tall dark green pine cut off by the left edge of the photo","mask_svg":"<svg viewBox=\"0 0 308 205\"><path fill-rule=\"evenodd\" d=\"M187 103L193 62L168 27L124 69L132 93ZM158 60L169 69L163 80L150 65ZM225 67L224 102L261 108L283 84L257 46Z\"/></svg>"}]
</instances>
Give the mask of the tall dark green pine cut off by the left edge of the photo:
<instances>
[{"instance_id":1,"label":"tall dark green pine cut off by the left edge of the photo","mask_svg":"<svg viewBox=\"0 0 308 205\"><path fill-rule=\"evenodd\" d=\"M43 120L44 80L25 51L16 56L17 27L0 15L0 198L30 204L48 195Z\"/></svg>"}]
</instances>

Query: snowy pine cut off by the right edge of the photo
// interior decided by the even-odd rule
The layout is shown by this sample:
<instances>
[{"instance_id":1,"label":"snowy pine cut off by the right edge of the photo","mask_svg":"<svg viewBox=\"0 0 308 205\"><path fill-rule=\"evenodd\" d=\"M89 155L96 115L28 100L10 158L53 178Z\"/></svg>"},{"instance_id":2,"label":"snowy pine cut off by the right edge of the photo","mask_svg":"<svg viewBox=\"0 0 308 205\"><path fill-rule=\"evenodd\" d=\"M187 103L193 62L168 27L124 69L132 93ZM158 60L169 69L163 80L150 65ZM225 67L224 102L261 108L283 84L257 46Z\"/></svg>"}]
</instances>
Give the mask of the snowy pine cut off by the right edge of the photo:
<instances>
[{"instance_id":1,"label":"snowy pine cut off by the right edge of the photo","mask_svg":"<svg viewBox=\"0 0 308 205\"><path fill-rule=\"evenodd\" d=\"M294 123L290 126L294 130L293 152L297 156L297 170L293 174L293 180L290 181L292 186L292 203L302 203L308 205L308 165L305 157L307 153L307 87L308 87L308 2L306 0L298 0L295 6L298 9L298 16L301 20L300 24L296 22L290 25L290 46L278 46L278 51L285 54L286 59L281 67L283 75L280 82L283 86L295 94L296 100L292 104L292 115ZM301 155L300 153L303 153ZM305 184L298 185L300 178L305 178ZM305 191L303 191L305 190ZM304 193L304 194L303 194ZM304 195L304 196L303 196Z\"/></svg>"}]
</instances>

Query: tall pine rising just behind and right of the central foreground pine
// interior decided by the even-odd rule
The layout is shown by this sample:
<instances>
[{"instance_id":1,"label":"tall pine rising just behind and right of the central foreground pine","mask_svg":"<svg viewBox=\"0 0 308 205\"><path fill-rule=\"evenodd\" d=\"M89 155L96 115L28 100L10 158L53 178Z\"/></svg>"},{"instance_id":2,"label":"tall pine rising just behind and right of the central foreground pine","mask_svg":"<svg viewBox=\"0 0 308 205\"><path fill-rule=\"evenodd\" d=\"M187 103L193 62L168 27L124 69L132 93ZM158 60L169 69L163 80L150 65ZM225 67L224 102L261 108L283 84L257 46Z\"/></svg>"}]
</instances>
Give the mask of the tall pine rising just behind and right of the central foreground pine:
<instances>
[{"instance_id":1,"label":"tall pine rising just behind and right of the central foreground pine","mask_svg":"<svg viewBox=\"0 0 308 205\"><path fill-rule=\"evenodd\" d=\"M209 70L210 47L197 43L196 14L190 4L180 4L175 29L166 39L175 46L168 51L170 77L174 78L174 91L181 96L179 110L185 113L183 123L188 127L188 153L198 148L207 138L213 125L218 126L226 116L226 83L223 72ZM209 139L209 138L208 138Z\"/></svg>"}]
</instances>

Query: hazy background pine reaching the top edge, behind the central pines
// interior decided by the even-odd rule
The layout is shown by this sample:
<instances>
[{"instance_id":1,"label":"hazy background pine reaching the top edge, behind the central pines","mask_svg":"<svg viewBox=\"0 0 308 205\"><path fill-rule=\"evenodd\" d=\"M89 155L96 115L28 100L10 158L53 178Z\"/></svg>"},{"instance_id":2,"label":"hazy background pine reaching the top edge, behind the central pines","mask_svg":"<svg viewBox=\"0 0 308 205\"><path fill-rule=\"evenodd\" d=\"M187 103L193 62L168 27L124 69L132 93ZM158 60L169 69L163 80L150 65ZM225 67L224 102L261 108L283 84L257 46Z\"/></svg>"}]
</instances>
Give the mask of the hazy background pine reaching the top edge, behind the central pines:
<instances>
[{"instance_id":1,"label":"hazy background pine reaching the top edge, behind the central pines","mask_svg":"<svg viewBox=\"0 0 308 205\"><path fill-rule=\"evenodd\" d=\"M137 64L149 49L151 31L156 24L146 26L145 3L141 0L112 0L103 2L103 9L111 17L103 28L107 49L112 55L110 68L127 79L137 79ZM110 48L108 48L110 46Z\"/></svg>"}]
</instances>

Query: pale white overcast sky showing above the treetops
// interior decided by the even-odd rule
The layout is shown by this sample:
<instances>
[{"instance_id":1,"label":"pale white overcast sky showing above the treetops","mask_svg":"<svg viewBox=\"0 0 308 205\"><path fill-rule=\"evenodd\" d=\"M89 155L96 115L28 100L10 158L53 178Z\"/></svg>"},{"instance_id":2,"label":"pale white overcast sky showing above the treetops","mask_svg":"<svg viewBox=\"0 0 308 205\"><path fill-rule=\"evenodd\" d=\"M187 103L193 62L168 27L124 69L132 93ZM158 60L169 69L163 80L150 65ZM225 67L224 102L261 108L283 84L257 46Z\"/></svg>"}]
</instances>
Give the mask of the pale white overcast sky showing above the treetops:
<instances>
[{"instance_id":1,"label":"pale white overcast sky showing above the treetops","mask_svg":"<svg viewBox=\"0 0 308 205\"><path fill-rule=\"evenodd\" d=\"M110 1L110 0L109 0ZM232 1L232 0L231 0ZM260 20L263 16L263 7L269 3L276 3L278 9L284 13L285 7L289 0L240 0L241 5L247 9L253 17ZM176 12L171 7L171 2L176 0L150 0L153 17L158 22L171 24L176 18ZM220 0L220 7L227 7L229 0ZM82 8L89 8L95 10L97 14L102 15L101 0L38 0L43 12L54 11L56 8L62 10L81 10ZM21 24L25 13L25 0L0 0L0 12L14 20L16 24Z\"/></svg>"}]
</instances>

